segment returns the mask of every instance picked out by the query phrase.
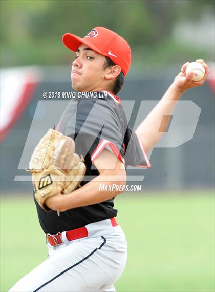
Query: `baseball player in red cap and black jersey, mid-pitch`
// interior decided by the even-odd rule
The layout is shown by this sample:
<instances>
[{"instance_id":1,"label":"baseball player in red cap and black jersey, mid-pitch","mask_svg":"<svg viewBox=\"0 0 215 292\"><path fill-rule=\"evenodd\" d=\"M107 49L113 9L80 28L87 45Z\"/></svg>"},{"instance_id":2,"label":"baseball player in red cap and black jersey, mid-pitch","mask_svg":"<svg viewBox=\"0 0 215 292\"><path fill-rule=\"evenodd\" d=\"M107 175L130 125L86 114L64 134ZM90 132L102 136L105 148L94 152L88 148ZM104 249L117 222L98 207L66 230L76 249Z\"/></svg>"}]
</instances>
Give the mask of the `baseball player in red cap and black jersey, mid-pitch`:
<instances>
[{"instance_id":1,"label":"baseball player in red cap and black jersey, mid-pitch","mask_svg":"<svg viewBox=\"0 0 215 292\"><path fill-rule=\"evenodd\" d=\"M202 85L208 66L204 60L197 60L206 74L201 81L193 82L193 73L185 74L185 63L160 102L133 131L116 96L130 69L128 43L104 27L92 29L84 38L66 33L62 41L76 52L71 80L81 98L77 96L69 103L56 129L59 135L56 131L55 135L75 141L75 152L84 158L85 177L79 188L66 194L59 191L46 197L44 192L42 204L36 196L40 189L52 186L50 175L49 180L35 187L34 200L46 233L48 259L10 291L114 292L127 257L125 235L114 208L114 197L126 184L126 166L150 167L146 153L163 135L164 130L158 129L163 115L173 111L175 103L171 101L179 100L188 88ZM86 93L93 93L93 98L87 98ZM163 129L167 124L165 120ZM107 187L101 191L100 184Z\"/></svg>"}]
</instances>

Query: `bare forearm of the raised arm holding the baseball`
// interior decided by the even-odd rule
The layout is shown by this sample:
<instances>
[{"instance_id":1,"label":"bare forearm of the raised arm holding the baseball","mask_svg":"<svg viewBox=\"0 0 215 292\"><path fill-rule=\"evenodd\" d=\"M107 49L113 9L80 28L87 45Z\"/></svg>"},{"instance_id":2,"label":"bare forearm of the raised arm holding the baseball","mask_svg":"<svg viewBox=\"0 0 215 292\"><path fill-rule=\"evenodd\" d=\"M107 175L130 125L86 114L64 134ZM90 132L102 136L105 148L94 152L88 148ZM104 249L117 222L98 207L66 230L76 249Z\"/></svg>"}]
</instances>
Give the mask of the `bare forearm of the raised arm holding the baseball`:
<instances>
[{"instance_id":1,"label":"bare forearm of the raised arm holding the baseball","mask_svg":"<svg viewBox=\"0 0 215 292\"><path fill-rule=\"evenodd\" d=\"M182 93L171 84L162 99L136 129L135 132L139 135L146 152L163 137L170 116L181 95Z\"/></svg>"}]
</instances>

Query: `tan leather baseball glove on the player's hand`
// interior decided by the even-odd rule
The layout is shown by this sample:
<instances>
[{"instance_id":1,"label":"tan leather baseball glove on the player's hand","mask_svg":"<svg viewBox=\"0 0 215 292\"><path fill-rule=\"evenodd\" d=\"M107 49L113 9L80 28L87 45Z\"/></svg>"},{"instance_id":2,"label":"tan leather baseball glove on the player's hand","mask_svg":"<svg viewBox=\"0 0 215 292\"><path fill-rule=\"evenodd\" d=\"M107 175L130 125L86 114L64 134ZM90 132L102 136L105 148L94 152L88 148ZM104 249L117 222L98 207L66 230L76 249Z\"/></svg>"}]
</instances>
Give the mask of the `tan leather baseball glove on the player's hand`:
<instances>
[{"instance_id":1,"label":"tan leather baseball glove on the player's hand","mask_svg":"<svg viewBox=\"0 0 215 292\"><path fill-rule=\"evenodd\" d=\"M34 196L40 207L51 211L45 201L58 193L75 190L85 170L83 157L75 153L74 140L49 129L35 147L27 170L32 172Z\"/></svg>"}]
</instances>

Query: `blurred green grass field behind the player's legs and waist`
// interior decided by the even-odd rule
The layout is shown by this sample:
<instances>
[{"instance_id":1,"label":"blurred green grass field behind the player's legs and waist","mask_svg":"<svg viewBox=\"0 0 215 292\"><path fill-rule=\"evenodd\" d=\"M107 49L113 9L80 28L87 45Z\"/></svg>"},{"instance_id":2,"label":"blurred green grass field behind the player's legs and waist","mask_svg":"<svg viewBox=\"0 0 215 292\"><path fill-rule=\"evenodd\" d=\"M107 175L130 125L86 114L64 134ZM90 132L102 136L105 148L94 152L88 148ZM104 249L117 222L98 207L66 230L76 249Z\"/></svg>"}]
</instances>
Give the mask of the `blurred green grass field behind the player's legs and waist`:
<instances>
[{"instance_id":1,"label":"blurred green grass field behind the player's legs and waist","mask_svg":"<svg viewBox=\"0 0 215 292\"><path fill-rule=\"evenodd\" d=\"M29 197L4 197L1 202L1 292L47 257L45 235ZM215 290L212 191L127 193L115 199L115 206L128 241L118 292Z\"/></svg>"}]
</instances>

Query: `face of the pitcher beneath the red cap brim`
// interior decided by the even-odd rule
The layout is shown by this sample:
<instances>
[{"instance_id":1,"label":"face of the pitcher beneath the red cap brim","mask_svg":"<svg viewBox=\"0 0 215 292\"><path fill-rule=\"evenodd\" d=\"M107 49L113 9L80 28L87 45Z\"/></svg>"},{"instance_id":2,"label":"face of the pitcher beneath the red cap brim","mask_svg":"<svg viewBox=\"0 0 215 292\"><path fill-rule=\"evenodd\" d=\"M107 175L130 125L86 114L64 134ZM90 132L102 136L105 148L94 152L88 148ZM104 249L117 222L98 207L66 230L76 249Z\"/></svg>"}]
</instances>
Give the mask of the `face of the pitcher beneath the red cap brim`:
<instances>
[{"instance_id":1,"label":"face of the pitcher beneath the red cap brim","mask_svg":"<svg viewBox=\"0 0 215 292\"><path fill-rule=\"evenodd\" d=\"M76 91L96 91L103 89L105 57L81 44L72 63L72 88Z\"/></svg>"}]
</instances>

